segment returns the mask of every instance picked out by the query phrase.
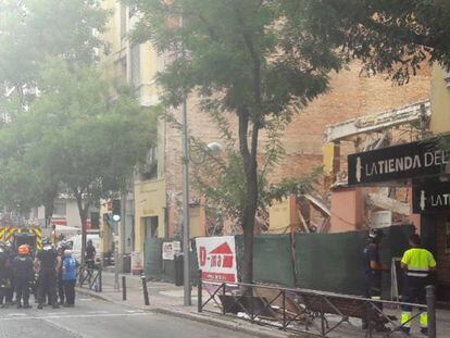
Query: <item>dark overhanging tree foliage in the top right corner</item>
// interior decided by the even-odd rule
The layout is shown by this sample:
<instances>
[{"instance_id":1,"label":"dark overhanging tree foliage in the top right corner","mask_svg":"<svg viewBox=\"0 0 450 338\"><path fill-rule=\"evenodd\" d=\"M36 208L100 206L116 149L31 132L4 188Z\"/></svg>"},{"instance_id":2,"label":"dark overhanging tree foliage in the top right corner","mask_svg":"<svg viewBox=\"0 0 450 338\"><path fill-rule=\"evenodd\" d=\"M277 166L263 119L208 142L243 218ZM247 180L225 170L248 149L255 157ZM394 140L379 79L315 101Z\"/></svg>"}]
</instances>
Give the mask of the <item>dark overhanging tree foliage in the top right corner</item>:
<instances>
[{"instance_id":1,"label":"dark overhanging tree foliage in the top right corner","mask_svg":"<svg viewBox=\"0 0 450 338\"><path fill-rule=\"evenodd\" d=\"M333 42L348 60L362 60L370 73L387 72L403 84L424 62L450 66L448 0L282 2L298 27L308 23L304 32L315 46Z\"/></svg>"}]
</instances>

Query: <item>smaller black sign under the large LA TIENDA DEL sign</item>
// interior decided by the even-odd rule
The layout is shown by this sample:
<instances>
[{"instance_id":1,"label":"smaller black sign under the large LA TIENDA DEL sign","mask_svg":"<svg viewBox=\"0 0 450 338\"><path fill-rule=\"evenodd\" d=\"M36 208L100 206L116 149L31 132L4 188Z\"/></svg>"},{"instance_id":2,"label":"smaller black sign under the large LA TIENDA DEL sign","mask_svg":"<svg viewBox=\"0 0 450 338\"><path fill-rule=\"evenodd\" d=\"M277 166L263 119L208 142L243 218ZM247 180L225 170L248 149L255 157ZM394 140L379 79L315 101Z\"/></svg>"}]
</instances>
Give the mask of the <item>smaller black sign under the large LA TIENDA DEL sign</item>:
<instances>
[{"instance_id":1,"label":"smaller black sign under the large LA TIENDA DEL sign","mask_svg":"<svg viewBox=\"0 0 450 338\"><path fill-rule=\"evenodd\" d=\"M450 183L426 180L413 188L413 213L450 212Z\"/></svg>"}]
</instances>

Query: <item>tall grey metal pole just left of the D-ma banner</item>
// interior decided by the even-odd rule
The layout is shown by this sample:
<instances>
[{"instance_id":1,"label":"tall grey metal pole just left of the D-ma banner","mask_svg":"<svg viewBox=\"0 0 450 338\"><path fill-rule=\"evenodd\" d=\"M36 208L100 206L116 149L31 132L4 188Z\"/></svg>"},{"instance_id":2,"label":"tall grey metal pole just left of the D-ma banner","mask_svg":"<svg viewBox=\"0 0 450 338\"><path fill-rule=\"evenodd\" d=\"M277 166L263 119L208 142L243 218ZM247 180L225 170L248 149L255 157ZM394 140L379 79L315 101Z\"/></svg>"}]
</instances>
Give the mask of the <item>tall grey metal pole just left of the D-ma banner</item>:
<instances>
[{"instance_id":1,"label":"tall grey metal pole just left of the D-ma banner","mask_svg":"<svg viewBox=\"0 0 450 338\"><path fill-rule=\"evenodd\" d=\"M190 297L190 234L189 234L189 139L187 128L187 102L183 101L183 285L184 304L191 305Z\"/></svg>"}]
</instances>

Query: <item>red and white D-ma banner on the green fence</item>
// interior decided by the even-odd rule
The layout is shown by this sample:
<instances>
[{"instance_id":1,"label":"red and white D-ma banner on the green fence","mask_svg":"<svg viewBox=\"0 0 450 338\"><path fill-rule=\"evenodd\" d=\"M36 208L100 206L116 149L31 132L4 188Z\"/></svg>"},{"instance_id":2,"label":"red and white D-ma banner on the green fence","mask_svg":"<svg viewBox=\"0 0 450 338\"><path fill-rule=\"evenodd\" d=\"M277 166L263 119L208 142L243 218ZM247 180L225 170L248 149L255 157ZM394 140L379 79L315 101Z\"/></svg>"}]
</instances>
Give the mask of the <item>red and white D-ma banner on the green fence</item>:
<instances>
[{"instance_id":1,"label":"red and white D-ma banner on the green fence","mask_svg":"<svg viewBox=\"0 0 450 338\"><path fill-rule=\"evenodd\" d=\"M203 279L237 281L234 236L196 238L196 246Z\"/></svg>"}]
</instances>

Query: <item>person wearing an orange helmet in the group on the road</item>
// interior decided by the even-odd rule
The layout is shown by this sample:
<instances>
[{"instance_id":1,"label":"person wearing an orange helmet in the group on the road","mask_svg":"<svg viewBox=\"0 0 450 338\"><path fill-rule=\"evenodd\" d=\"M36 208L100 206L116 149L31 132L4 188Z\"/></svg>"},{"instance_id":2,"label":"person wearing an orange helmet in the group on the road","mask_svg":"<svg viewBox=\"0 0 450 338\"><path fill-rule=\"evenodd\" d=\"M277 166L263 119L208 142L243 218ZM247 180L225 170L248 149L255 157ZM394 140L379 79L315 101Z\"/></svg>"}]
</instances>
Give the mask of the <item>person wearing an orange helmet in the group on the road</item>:
<instances>
[{"instance_id":1,"label":"person wearing an orange helmet in the group on the road","mask_svg":"<svg viewBox=\"0 0 450 338\"><path fill-rule=\"evenodd\" d=\"M17 309L22 306L25 309L32 308L29 305L29 284L35 275L33 259L29 255L29 247L23 245L18 247L18 255L13 261L13 272L15 280L15 292ZM23 301L23 305L22 305Z\"/></svg>"}]
</instances>

